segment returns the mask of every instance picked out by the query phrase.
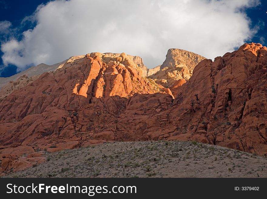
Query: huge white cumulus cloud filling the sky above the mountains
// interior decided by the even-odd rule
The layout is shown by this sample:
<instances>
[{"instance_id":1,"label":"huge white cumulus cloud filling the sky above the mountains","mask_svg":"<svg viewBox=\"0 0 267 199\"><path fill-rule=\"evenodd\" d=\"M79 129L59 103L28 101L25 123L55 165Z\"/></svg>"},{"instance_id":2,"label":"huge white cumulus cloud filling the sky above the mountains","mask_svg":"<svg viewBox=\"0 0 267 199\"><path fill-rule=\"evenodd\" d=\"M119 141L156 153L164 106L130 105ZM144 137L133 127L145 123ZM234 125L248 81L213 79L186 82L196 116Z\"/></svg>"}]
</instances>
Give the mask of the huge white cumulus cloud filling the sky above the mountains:
<instances>
[{"instance_id":1,"label":"huge white cumulus cloud filling the sky above the mountains","mask_svg":"<svg viewBox=\"0 0 267 199\"><path fill-rule=\"evenodd\" d=\"M245 8L258 0L57 0L25 20L36 26L2 43L2 60L19 70L89 52L139 55L152 68L169 48L215 58L251 38Z\"/></svg>"}]
</instances>

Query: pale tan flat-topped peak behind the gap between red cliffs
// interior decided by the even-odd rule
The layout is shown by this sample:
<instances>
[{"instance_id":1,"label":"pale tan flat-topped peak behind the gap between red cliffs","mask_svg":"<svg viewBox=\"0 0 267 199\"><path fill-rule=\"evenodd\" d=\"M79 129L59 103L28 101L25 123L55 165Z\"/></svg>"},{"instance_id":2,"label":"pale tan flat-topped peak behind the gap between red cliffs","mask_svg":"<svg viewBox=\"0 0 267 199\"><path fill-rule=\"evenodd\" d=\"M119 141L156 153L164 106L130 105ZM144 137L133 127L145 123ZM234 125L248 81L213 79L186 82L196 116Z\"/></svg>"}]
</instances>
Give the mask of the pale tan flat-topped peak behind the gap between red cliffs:
<instances>
[{"instance_id":1,"label":"pale tan flat-topped peak behind the gap between red cliffs","mask_svg":"<svg viewBox=\"0 0 267 199\"><path fill-rule=\"evenodd\" d=\"M188 80L192 76L194 67L204 59L201 55L193 52L171 48L167 52L165 61L160 65L160 70L155 74L148 75L148 78L164 87L172 88L175 81Z\"/></svg>"}]
</instances>

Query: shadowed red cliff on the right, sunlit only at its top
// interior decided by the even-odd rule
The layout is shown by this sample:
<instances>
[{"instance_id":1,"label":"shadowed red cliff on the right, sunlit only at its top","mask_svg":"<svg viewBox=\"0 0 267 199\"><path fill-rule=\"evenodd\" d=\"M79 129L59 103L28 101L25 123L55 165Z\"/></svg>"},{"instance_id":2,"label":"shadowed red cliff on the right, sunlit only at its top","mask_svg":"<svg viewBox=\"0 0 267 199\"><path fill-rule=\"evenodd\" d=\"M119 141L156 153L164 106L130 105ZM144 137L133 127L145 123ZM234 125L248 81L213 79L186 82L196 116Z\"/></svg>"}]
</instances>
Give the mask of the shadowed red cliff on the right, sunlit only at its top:
<instances>
[{"instance_id":1,"label":"shadowed red cliff on the right, sunlit only at its top","mask_svg":"<svg viewBox=\"0 0 267 199\"><path fill-rule=\"evenodd\" d=\"M266 154L266 65L266 47L254 43L214 62L201 61L187 83L178 87L169 116L183 133L168 139L198 140Z\"/></svg>"}]
</instances>

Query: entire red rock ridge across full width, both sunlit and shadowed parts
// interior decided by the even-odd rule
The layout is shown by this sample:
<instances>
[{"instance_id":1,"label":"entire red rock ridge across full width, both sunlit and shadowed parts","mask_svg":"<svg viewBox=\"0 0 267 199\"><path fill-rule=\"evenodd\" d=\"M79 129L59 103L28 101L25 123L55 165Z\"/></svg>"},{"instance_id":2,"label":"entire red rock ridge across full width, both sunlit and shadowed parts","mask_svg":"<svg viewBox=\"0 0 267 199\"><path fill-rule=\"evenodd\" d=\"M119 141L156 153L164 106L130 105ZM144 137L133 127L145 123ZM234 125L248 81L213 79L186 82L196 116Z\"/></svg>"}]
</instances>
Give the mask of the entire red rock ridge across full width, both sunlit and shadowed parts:
<instances>
[{"instance_id":1,"label":"entire red rock ridge across full width, both sunlit and shadowed parts","mask_svg":"<svg viewBox=\"0 0 267 199\"><path fill-rule=\"evenodd\" d=\"M266 66L266 47L242 45L201 61L175 82L173 99L126 54L87 54L0 99L0 172L19 168L16 151L114 140L193 140L266 155Z\"/></svg>"}]
</instances>

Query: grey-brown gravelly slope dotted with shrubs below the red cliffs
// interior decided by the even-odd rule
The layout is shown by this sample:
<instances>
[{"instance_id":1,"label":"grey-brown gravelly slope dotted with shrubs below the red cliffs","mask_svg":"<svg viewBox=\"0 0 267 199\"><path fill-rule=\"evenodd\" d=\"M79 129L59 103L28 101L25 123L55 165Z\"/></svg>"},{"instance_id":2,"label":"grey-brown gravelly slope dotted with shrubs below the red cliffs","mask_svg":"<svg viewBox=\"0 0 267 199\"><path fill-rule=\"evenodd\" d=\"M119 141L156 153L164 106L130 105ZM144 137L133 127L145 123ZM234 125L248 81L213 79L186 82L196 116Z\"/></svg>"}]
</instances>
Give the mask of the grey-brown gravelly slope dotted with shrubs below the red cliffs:
<instances>
[{"instance_id":1,"label":"grey-brown gravelly slope dotted with shrubs below the red cliffs","mask_svg":"<svg viewBox=\"0 0 267 199\"><path fill-rule=\"evenodd\" d=\"M196 142L113 142L45 155L4 177L267 177L264 157Z\"/></svg>"}]
</instances>

